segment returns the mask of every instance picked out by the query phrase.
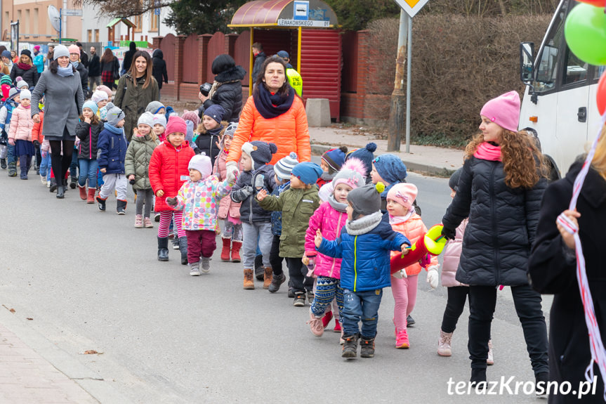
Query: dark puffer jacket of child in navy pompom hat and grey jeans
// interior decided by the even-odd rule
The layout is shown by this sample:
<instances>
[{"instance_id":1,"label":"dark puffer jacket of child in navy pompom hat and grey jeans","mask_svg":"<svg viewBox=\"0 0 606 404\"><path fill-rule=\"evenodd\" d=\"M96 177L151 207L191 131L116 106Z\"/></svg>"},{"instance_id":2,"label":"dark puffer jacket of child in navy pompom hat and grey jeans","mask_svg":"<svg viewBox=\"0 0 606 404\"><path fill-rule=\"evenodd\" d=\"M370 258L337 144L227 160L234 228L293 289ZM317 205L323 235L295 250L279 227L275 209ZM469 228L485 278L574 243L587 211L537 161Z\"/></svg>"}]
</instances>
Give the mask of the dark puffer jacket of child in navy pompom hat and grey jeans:
<instances>
[{"instance_id":1,"label":"dark puffer jacket of child in navy pompom hat and grey jeans","mask_svg":"<svg viewBox=\"0 0 606 404\"><path fill-rule=\"evenodd\" d=\"M272 220L272 212L260 207L255 200L257 190L253 185L255 184L257 176L261 175L263 176L263 185L268 191L268 194L272 193L275 188L274 167L272 165L261 167L255 174L252 174L251 171L242 171L238 176L236 185L232 188L232 193L230 193L232 201L242 202L240 205L240 220L245 223L269 223ZM242 197L242 193L239 191L247 186L253 187L253 194L248 197Z\"/></svg>"}]
</instances>

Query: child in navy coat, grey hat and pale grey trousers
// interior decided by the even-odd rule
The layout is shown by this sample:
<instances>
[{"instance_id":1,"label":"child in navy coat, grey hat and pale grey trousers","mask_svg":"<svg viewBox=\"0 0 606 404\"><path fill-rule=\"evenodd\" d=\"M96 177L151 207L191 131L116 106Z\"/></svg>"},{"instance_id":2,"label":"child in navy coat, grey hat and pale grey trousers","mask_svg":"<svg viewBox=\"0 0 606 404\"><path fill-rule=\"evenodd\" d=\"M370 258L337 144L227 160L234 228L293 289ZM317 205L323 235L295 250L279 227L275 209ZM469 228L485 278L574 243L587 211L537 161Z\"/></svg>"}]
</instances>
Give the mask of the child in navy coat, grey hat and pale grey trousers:
<instances>
[{"instance_id":1,"label":"child in navy coat, grey hat and pale grey trousers","mask_svg":"<svg viewBox=\"0 0 606 404\"><path fill-rule=\"evenodd\" d=\"M107 122L99 133L97 141L97 162L103 173L103 186L97 196L100 211L105 211L105 200L115 189L117 191L116 213L126 214L126 136L124 135L124 112L112 103L107 103Z\"/></svg>"}]
</instances>

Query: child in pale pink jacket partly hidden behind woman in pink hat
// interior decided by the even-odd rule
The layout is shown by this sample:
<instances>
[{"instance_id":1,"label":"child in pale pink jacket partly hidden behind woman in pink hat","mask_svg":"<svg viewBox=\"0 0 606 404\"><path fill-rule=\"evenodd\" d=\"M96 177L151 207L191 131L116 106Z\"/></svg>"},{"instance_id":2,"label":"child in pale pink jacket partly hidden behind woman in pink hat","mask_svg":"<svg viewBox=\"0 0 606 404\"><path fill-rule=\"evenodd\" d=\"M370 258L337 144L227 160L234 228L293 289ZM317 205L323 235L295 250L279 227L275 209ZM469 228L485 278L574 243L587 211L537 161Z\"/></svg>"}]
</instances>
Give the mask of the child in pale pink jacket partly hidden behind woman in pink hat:
<instances>
[{"instance_id":1,"label":"child in pale pink jacket partly hidden behind woman in pink hat","mask_svg":"<svg viewBox=\"0 0 606 404\"><path fill-rule=\"evenodd\" d=\"M456 194L456 185L459 183L461 170L454 171L448 185L450 187L450 196L454 198ZM444 317L442 318L442 327L440 327L440 339L437 341L437 354L440 356L452 355L452 333L456 328L456 322L463 313L465 301L469 294L469 287L454 278L456 270L459 268L459 259L461 259L461 250L463 249L463 235L467 226L468 219L461 222L456 228L454 240L450 240L444 247L444 262L442 263L442 286L448 288L448 300L444 308ZM494 365L492 355L492 340L488 341L487 365Z\"/></svg>"}]
</instances>

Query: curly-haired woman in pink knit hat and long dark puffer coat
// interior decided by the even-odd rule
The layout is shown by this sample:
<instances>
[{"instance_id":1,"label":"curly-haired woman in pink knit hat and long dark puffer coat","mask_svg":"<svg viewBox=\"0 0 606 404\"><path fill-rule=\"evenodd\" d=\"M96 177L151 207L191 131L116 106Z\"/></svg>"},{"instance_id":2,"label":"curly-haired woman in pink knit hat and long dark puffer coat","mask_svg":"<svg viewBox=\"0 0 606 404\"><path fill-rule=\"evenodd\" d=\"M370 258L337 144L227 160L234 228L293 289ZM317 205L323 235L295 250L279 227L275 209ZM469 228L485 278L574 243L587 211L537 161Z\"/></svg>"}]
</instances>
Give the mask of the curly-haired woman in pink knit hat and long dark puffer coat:
<instances>
[{"instance_id":1,"label":"curly-haired woman in pink knit hat and long dark puffer coat","mask_svg":"<svg viewBox=\"0 0 606 404\"><path fill-rule=\"evenodd\" d=\"M480 133L467 145L456 195L442 223L454 240L469 217L456 280L469 285L469 343L473 383L486 382L486 360L499 285L511 289L536 382L546 382L548 343L541 295L530 287L527 264L547 186L543 157L518 132L520 96L510 91L480 112Z\"/></svg>"}]
</instances>

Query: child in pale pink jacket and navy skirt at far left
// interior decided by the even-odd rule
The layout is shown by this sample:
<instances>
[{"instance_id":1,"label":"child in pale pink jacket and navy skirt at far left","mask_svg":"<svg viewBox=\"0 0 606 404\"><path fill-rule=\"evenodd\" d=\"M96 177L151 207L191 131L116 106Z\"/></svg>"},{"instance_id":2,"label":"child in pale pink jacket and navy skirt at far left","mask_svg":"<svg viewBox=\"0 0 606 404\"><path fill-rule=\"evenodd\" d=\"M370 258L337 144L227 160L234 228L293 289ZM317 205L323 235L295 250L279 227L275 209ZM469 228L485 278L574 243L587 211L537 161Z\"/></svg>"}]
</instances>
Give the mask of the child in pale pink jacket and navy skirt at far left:
<instances>
[{"instance_id":1,"label":"child in pale pink jacket and navy skirt at far left","mask_svg":"<svg viewBox=\"0 0 606 404\"><path fill-rule=\"evenodd\" d=\"M15 157L19 157L21 166L21 179L27 180L27 173L32 166L32 157L36 155L32 143L32 128L34 121L29 111L32 93L23 90L20 93L20 104L13 110L11 128L8 131L8 143L15 146Z\"/></svg>"}]
</instances>

